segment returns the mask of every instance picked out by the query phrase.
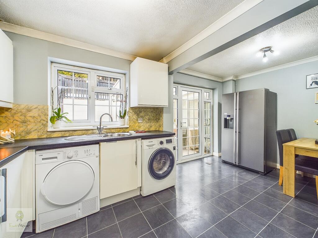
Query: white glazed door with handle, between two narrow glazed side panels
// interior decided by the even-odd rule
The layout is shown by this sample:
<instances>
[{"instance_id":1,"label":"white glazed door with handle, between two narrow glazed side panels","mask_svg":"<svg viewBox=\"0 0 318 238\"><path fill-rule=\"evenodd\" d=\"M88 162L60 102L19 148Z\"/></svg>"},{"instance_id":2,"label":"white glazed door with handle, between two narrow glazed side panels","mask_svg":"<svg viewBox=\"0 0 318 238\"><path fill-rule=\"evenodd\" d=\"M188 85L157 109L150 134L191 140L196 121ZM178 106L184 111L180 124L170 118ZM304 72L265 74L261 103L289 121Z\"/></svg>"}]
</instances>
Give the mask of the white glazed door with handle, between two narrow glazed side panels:
<instances>
[{"instance_id":1,"label":"white glazed door with handle, between two narrow glazed side panels","mask_svg":"<svg viewBox=\"0 0 318 238\"><path fill-rule=\"evenodd\" d=\"M181 125L179 159L202 155L201 146L201 90L181 87ZM182 134L182 135L181 135Z\"/></svg>"}]
</instances>

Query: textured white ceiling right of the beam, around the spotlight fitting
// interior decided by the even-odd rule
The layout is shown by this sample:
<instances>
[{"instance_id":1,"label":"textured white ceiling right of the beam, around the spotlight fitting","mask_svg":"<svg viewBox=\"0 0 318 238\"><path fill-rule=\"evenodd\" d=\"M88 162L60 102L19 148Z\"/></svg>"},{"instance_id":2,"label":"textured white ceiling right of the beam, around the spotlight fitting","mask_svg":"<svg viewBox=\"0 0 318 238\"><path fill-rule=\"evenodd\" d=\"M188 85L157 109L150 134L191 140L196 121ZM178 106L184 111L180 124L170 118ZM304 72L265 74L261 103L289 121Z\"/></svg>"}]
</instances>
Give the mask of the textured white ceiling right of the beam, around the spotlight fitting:
<instances>
[{"instance_id":1,"label":"textured white ceiling right of the beam, around the spotlight fitting","mask_svg":"<svg viewBox=\"0 0 318 238\"><path fill-rule=\"evenodd\" d=\"M280 55L256 53L272 46ZM225 78L241 76L318 55L318 7L312 8L187 69Z\"/></svg>"}]
</instances>

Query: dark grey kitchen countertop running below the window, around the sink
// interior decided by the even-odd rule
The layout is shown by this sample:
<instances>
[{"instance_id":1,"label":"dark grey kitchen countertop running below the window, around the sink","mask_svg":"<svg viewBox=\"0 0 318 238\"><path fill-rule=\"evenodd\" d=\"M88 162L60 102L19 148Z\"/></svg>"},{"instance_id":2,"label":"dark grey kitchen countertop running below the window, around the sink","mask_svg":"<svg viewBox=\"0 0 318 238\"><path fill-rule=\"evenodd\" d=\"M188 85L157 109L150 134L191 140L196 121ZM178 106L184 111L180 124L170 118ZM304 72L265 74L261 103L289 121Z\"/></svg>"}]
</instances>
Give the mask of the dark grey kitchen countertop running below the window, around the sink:
<instances>
[{"instance_id":1,"label":"dark grey kitchen countertop running below the window, around the sink","mask_svg":"<svg viewBox=\"0 0 318 238\"><path fill-rule=\"evenodd\" d=\"M7 143L0 145L0 167L15 159L17 156L21 155L29 149L53 149L60 147L69 147L69 146L80 146L80 145L89 145L97 144L100 142L109 142L109 141L123 141L131 139L148 139L148 138L161 138L174 136L174 132L161 131L161 130L150 130L145 133L135 133L131 136L123 137L102 137L96 140L86 140L86 141L68 141L65 140L68 136L63 137L46 137L46 138L36 138L36 139L20 139L16 140L14 143Z\"/></svg>"}]
</instances>

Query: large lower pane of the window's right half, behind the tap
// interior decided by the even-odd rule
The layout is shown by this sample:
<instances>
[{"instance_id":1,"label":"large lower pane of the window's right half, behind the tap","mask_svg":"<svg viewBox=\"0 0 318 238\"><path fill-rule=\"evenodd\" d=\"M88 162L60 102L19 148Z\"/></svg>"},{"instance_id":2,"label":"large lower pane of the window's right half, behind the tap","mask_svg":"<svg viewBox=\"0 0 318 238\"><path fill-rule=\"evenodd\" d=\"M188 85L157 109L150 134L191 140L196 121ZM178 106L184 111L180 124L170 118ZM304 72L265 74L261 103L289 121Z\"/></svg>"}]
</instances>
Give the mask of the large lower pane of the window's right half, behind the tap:
<instances>
[{"instance_id":1,"label":"large lower pane of the window's right half, behind the tap","mask_svg":"<svg viewBox=\"0 0 318 238\"><path fill-rule=\"evenodd\" d=\"M95 122L99 122L100 116L104 113L109 113L113 121L118 121L121 98L122 94L95 93ZM102 122L110 121L109 116L103 116Z\"/></svg>"}]
</instances>

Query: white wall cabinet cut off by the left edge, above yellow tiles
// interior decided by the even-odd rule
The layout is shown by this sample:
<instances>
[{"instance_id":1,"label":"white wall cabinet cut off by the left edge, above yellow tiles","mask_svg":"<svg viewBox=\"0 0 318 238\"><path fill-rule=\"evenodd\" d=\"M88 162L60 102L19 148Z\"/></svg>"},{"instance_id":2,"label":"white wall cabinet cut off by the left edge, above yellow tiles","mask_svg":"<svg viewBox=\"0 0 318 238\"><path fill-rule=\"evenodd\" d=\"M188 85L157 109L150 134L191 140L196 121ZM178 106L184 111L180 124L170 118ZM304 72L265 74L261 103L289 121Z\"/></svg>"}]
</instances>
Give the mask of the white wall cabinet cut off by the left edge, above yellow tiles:
<instances>
[{"instance_id":1,"label":"white wall cabinet cut off by the left edge, above yellow tiles","mask_svg":"<svg viewBox=\"0 0 318 238\"><path fill-rule=\"evenodd\" d=\"M12 108L13 103L13 45L0 29L0 107Z\"/></svg>"}]
</instances>

